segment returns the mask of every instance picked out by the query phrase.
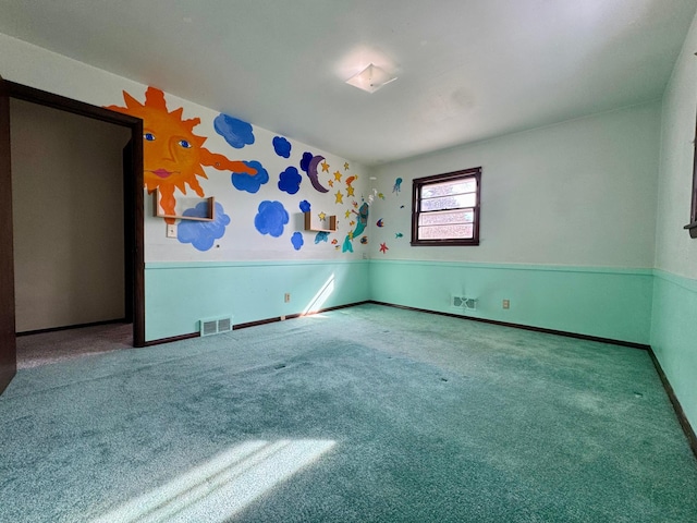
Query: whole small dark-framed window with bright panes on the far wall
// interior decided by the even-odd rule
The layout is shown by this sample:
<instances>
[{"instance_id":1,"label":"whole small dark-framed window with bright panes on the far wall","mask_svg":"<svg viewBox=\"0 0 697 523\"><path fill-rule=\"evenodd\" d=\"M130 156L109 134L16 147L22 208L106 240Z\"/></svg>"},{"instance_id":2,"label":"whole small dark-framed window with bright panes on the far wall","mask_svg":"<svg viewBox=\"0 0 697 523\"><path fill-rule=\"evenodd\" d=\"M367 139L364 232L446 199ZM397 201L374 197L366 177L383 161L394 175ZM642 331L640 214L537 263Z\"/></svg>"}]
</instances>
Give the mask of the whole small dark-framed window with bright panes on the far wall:
<instances>
[{"instance_id":1,"label":"whole small dark-framed window with bright panes on the far wall","mask_svg":"<svg viewBox=\"0 0 697 523\"><path fill-rule=\"evenodd\" d=\"M479 245L481 168L414 180L412 245Z\"/></svg>"}]
</instances>

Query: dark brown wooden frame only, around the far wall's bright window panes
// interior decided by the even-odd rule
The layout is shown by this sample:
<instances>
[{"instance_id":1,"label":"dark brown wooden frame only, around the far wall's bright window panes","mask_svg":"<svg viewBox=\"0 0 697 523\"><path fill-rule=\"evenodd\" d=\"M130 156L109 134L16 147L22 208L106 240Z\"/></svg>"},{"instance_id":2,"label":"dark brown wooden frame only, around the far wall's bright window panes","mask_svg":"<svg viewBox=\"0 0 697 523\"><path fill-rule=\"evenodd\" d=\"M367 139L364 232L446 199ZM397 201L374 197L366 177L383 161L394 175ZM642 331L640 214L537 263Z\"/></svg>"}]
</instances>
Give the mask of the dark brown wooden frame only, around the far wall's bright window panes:
<instances>
[{"instance_id":1,"label":"dark brown wooden frame only, around the far wall's bright window panes","mask_svg":"<svg viewBox=\"0 0 697 523\"><path fill-rule=\"evenodd\" d=\"M472 239L420 240L418 217L420 215L420 191L425 185L474 178L477 181L477 203L474 207L474 234ZM413 246L472 246L479 245L479 218L481 215L481 167L445 172L430 177L415 178L412 182L412 245Z\"/></svg>"}]
</instances>

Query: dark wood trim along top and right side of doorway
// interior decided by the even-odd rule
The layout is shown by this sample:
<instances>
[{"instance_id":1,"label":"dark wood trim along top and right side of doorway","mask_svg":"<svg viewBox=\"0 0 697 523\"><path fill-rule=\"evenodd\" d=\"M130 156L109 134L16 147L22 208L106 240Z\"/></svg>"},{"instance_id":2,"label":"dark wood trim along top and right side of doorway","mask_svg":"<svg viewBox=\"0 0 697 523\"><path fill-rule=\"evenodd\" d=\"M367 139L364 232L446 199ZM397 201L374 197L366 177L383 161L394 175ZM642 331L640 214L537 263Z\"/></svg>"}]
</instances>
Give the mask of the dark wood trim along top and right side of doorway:
<instances>
[{"instance_id":1,"label":"dark wood trim along top and right side of doorway","mask_svg":"<svg viewBox=\"0 0 697 523\"><path fill-rule=\"evenodd\" d=\"M4 84L7 84L7 93L11 98L131 129L133 143L131 167L134 181L132 197L126 198L126 202L131 199L133 205L133 244L131 246L133 254L133 344L134 346L145 346L143 120L14 82L5 81ZM14 307L14 304L12 307Z\"/></svg>"}]
</instances>

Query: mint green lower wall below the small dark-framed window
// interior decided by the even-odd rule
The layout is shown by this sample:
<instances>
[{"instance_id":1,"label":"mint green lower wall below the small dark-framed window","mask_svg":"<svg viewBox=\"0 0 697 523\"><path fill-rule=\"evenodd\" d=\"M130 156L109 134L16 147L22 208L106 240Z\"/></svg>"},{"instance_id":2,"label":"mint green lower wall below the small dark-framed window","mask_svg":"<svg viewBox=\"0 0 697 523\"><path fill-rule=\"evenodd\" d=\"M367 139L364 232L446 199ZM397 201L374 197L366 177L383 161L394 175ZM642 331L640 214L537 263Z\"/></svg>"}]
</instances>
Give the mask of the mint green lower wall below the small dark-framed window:
<instances>
[{"instance_id":1,"label":"mint green lower wall below the small dark-framed window","mask_svg":"<svg viewBox=\"0 0 697 523\"><path fill-rule=\"evenodd\" d=\"M458 313L452 294L478 300L466 316L648 344L651 269L370 262L370 297ZM502 301L511 308L503 309Z\"/></svg>"}]
</instances>

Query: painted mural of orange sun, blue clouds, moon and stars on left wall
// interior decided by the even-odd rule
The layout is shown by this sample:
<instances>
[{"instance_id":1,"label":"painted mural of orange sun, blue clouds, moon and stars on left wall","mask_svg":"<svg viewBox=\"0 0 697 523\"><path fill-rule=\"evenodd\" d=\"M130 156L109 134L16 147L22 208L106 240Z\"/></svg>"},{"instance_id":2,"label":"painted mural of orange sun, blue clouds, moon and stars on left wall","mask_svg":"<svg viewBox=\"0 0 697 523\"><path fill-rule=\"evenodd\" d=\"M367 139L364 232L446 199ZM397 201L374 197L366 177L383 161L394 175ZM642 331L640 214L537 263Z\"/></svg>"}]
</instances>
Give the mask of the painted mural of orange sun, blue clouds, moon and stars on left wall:
<instances>
[{"instance_id":1,"label":"painted mural of orange sun, blue clouds, moon and stars on left wall","mask_svg":"<svg viewBox=\"0 0 697 523\"><path fill-rule=\"evenodd\" d=\"M323 244L329 248L333 246L338 251L353 253L354 239L359 240L364 245L368 243L365 231L368 226L369 203L362 195L356 194L354 183L358 175L350 171L351 166L347 161L341 160L343 170L341 166L339 169L331 169L323 155L311 151L301 153L302 149L293 154L293 145L288 138L265 135L261 130L256 130L252 124L224 113L209 118L208 124L212 130L208 132L207 136L196 134L195 130L198 129L201 119L184 118L184 108L182 107L170 110L167 98L168 95L152 86L146 88L144 101L124 90L124 104L108 106L108 109L143 120L144 185L150 194L156 190L159 191L161 210L166 215L172 215L164 218L167 223L178 221L174 216L183 218L179 221L176 231L176 239L181 244L191 245L200 252L220 247L220 239L232 226L240 232L242 232L241 229L246 228L262 235L283 236L288 242L285 248L292 247L295 251L307 248L309 245L321 246ZM233 149L252 146L255 150L255 157L258 157L259 160L265 163L268 161L269 166L276 161L271 174L257 159L231 159L234 158L235 153L221 151L219 154L206 148L204 144L209 137L215 136L213 131ZM222 144L222 141L219 144ZM278 165L280 158L288 159L288 163L285 166ZM219 181L212 180L203 183L211 175L211 171L206 168L227 172L234 190L247 193L247 195L257 195L259 199L256 203L252 202L252 208L249 208L249 204L235 206L239 212L241 209L248 209L243 212L246 217L225 212L223 203L227 199L225 195L221 194L224 180L222 181L223 185L220 185ZM274 183L269 183L271 177L277 177ZM306 179L309 184L303 185ZM211 191L211 186L217 187L216 191L218 191L215 219L212 221L186 220L186 217L206 217L208 204L206 202L194 203L191 208L186 209L182 195L186 195L188 191L203 198L206 196L205 193ZM331 192L329 187L332 187ZM285 195L286 198L289 195L304 194L308 196L311 193L317 196L318 204L331 205L333 200L334 205L343 207L339 212L329 210L320 212L320 220L328 219L329 215L343 215L343 210L347 207L346 220L343 221L343 216L340 217L341 221L337 220L342 232L316 231L313 232L313 241L309 241L306 238L307 232L303 230L302 226L296 224L294 228L289 226L291 223L291 216L286 210L289 202L280 196L273 197L273 191L278 191L277 194ZM362 202L363 205L359 206L354 198ZM299 202L301 211L310 210L309 199ZM370 195L370 199L372 199L372 195ZM257 206L256 212L254 206ZM184 210L182 210L183 207ZM299 222L294 220L293 223ZM289 228L291 228L290 231ZM342 244L341 238L344 235L345 240Z\"/></svg>"}]
</instances>

